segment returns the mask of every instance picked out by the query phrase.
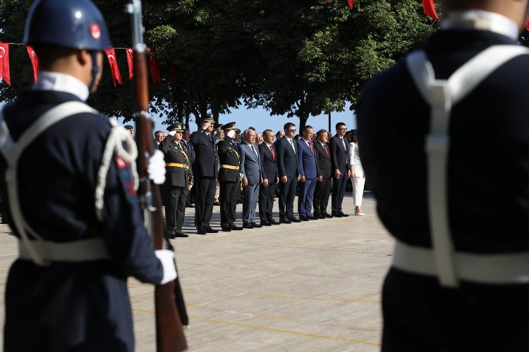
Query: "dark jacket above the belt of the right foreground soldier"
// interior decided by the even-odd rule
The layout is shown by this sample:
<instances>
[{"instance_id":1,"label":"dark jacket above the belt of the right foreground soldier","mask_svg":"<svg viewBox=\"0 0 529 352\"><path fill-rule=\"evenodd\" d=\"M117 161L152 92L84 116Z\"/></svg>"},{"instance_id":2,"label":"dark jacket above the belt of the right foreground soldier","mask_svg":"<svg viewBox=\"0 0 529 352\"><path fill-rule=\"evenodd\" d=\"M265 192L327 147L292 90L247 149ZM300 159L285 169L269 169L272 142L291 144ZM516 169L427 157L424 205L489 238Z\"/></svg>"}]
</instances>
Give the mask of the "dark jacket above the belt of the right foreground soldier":
<instances>
[{"instance_id":1,"label":"dark jacket above the belt of the right foreground soldier","mask_svg":"<svg viewBox=\"0 0 529 352\"><path fill-rule=\"evenodd\" d=\"M480 51L511 44L478 30L439 31L425 44L444 80ZM487 77L452 109L449 223L458 251L529 250L529 56ZM365 87L357 110L362 165L379 217L395 237L430 246L425 136L430 107L404 63Z\"/></svg>"}]
</instances>

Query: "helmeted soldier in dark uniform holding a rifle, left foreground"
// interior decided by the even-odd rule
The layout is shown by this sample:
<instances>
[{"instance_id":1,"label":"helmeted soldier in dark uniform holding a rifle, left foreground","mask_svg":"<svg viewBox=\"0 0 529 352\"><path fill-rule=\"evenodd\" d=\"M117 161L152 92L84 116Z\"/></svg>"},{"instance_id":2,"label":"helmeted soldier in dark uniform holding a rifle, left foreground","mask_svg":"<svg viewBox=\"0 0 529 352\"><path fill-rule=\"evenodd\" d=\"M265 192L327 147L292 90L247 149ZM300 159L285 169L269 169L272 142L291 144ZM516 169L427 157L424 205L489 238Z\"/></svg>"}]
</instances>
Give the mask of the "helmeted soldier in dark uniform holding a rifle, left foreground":
<instances>
[{"instance_id":1,"label":"helmeted soldier in dark uniform holding a rifle, left foreground","mask_svg":"<svg viewBox=\"0 0 529 352\"><path fill-rule=\"evenodd\" d=\"M37 82L0 112L0 193L19 240L4 351L133 352L127 277L161 284L176 271L145 230L133 139L84 103L112 47L107 26L89 0L39 0L24 42L39 57Z\"/></svg>"}]
</instances>

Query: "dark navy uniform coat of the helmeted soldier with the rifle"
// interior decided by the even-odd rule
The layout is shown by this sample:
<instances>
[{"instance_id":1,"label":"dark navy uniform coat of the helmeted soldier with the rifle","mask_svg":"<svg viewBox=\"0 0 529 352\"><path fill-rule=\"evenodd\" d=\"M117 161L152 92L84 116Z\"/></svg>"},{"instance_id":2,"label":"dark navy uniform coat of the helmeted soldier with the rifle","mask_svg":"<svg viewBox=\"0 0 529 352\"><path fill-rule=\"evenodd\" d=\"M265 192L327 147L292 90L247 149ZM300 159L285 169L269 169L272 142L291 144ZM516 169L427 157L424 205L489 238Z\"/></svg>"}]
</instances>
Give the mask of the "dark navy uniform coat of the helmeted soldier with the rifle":
<instances>
[{"instance_id":1,"label":"dark navy uniform coat of the helmeted soldier with the rifle","mask_svg":"<svg viewBox=\"0 0 529 352\"><path fill-rule=\"evenodd\" d=\"M63 92L21 92L4 108L13 139L66 101L79 99ZM163 269L143 225L130 168L114 158L104 221L96 218L97 171L109 132L102 115L73 115L42 132L18 162L18 198L30 227L47 241L103 237L112 259L44 267L16 260L6 284L4 351L69 351L74 346L79 351L133 351L127 277L158 284ZM2 213L8 215L5 169L0 157ZM12 224L11 229L18 236Z\"/></svg>"}]
</instances>

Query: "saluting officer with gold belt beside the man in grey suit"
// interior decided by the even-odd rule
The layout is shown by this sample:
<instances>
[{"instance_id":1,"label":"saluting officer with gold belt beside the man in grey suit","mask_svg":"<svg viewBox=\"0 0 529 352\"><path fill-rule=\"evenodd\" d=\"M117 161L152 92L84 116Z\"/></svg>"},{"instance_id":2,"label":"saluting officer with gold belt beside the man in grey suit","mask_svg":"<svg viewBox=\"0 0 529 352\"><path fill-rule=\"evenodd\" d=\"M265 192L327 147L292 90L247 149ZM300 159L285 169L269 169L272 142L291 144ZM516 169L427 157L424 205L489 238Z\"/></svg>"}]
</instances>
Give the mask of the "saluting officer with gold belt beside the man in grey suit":
<instances>
[{"instance_id":1,"label":"saluting officer with gold belt beside the man in grey suit","mask_svg":"<svg viewBox=\"0 0 529 352\"><path fill-rule=\"evenodd\" d=\"M219 184L222 231L243 230L235 225L235 209L237 207L237 194L241 188L239 183L239 153L233 137L235 136L235 122L222 126L224 140L217 143L219 149Z\"/></svg>"}]
</instances>

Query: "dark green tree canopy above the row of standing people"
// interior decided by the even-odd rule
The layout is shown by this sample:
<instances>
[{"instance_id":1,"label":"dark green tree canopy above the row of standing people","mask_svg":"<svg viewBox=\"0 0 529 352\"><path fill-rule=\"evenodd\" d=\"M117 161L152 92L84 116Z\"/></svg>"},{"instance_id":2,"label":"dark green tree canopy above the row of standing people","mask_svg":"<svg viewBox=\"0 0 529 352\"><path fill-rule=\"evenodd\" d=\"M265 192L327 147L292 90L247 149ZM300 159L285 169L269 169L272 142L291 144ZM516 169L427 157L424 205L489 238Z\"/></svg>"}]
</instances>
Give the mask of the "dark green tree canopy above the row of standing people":
<instances>
[{"instance_id":1,"label":"dark green tree canopy above the row of standing people","mask_svg":"<svg viewBox=\"0 0 529 352\"><path fill-rule=\"evenodd\" d=\"M94 0L114 46L130 46L127 0ZM22 42L31 1L0 2L0 42ZM152 110L166 123L195 120L210 111L264 106L271 115L300 118L343 111L366 80L401 59L438 23L417 0L170 0L143 1L145 41L162 65L162 85L151 87ZM11 101L32 73L23 46L11 46ZM105 61L90 103L130 119L133 111L126 54L116 50L123 86L114 88ZM353 108L353 106L351 108ZM188 120L186 121L188 122Z\"/></svg>"}]
</instances>

